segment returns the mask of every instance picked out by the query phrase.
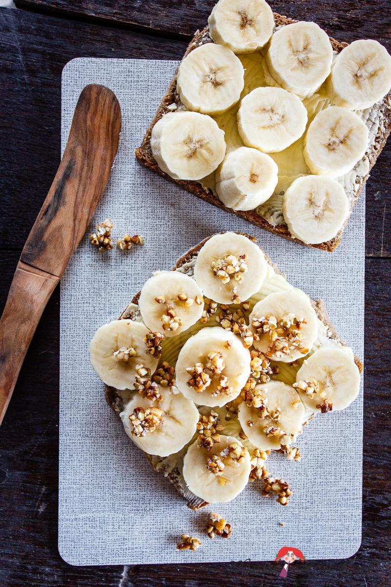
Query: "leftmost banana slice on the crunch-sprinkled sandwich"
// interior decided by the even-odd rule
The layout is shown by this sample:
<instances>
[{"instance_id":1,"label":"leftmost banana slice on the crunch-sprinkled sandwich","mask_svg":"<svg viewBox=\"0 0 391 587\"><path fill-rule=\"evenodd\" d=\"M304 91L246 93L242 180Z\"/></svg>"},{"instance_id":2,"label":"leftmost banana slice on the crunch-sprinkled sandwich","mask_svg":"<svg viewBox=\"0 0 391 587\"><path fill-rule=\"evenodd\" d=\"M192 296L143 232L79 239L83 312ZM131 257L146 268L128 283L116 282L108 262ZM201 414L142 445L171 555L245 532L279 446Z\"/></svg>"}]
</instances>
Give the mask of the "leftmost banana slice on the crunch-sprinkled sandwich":
<instances>
[{"instance_id":1,"label":"leftmost banana slice on the crunch-sprinkled sandwich","mask_svg":"<svg viewBox=\"0 0 391 587\"><path fill-rule=\"evenodd\" d=\"M127 389L134 384L136 365L155 371L158 359L147 353L144 342L148 332L147 326L132 320L114 320L97 329L90 343L90 360L103 383Z\"/></svg>"}]
</instances>

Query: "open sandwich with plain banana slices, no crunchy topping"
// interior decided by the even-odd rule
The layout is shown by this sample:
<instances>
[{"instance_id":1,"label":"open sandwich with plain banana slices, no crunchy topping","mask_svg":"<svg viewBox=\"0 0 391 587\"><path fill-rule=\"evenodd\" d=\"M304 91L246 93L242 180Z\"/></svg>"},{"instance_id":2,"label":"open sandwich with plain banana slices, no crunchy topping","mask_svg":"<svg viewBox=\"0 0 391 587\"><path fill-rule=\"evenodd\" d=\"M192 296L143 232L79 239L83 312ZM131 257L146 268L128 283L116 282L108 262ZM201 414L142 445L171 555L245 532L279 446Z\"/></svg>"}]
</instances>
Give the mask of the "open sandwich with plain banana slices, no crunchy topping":
<instances>
[{"instance_id":1,"label":"open sandwich with plain banana slices, no crunchy topping","mask_svg":"<svg viewBox=\"0 0 391 587\"><path fill-rule=\"evenodd\" d=\"M141 163L220 208L328 251L391 128L391 56L264 0L219 0L190 43Z\"/></svg>"}]
</instances>

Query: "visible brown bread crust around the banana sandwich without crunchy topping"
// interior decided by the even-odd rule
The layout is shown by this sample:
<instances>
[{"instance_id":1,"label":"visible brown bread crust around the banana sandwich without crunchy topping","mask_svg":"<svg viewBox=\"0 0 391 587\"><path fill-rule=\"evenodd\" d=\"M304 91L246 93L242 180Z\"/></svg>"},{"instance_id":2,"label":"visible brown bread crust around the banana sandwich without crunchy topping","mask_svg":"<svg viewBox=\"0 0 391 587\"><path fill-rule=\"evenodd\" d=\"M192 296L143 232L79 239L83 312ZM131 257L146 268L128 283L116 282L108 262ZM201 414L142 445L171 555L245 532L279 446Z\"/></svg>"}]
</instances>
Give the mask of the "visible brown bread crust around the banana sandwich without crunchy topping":
<instances>
[{"instance_id":1,"label":"visible brown bread crust around the banana sandwich without crunchy topping","mask_svg":"<svg viewBox=\"0 0 391 587\"><path fill-rule=\"evenodd\" d=\"M289 25L291 23L297 22L291 18L287 18L287 16L281 16L280 14L277 14L276 12L274 13L274 21L276 22L276 26ZM186 49L185 55L183 55L183 59L193 49L198 47L200 45L200 43L207 42L205 40L205 37L208 36L208 32L209 32L209 27L206 26L205 29L203 29L203 31L197 31L195 33L195 36L193 37L192 41L189 43L188 48ZM344 49L344 47L346 47L348 45L348 43L342 43L342 42L336 41L332 37L330 37L329 39L330 39L332 48L338 53L341 52L341 50ZM209 41L211 41L211 39L209 39ZM390 131L391 131L391 103L390 103L390 100L391 100L391 94L388 94L387 96L385 96L385 98L383 99L383 101L379 107L379 114L380 114L380 118L382 119L382 125L379 125L379 128L376 131L376 137L373 142L373 146L366 153L368 156L368 159L369 159L369 171L375 165L376 159L378 158L380 152L382 151L383 147L385 146L387 137L389 136ZM159 168L158 164L156 163L156 161L154 159L154 156L152 155L152 151L151 151L151 143L150 143L151 131L152 131L152 128L155 126L155 124L158 122L158 120L161 119L161 117L164 116L164 114L170 112L170 110L168 109L168 106L173 103L176 103L176 104L179 103L179 96L176 93L176 74L174 76L174 79L172 79L172 81L168 87L168 90L165 93L161 103L159 104L159 107L158 107L158 110L155 114L155 117L152 120L151 124L149 125L148 130L145 133L144 139L142 140L141 146L138 147L138 149L136 149L136 151L135 151L135 156L138 159L138 161L140 161L140 163L145 165L145 167L148 167L148 169L150 169L151 171L154 171L155 173L158 173L160 176L165 177L166 180L169 180L169 181L172 181L178 185L181 185L181 187L183 187L186 191L189 191L192 194L197 195L202 200L205 200L206 202L209 202L210 204L214 204L215 206L222 208L222 210L225 210L226 212L231 212L232 214L236 214L237 216L244 218L244 220L247 220L247 221L251 222L252 224L255 224L256 226L259 226L260 228L264 228L265 230L268 230L269 232L274 232L274 234L278 234L280 237L284 237L284 238L287 238L288 240L293 240L293 241L299 242L302 245L306 245L304 242L300 241L300 239L292 237L291 233L288 231L288 228L285 224L277 225L274 227L269 222L267 222L267 220L265 220L265 218L263 218L259 214L257 214L254 210L235 211L235 210L232 210L232 208L227 208L219 200L219 198L217 198L217 195L213 194L213 192L209 189L205 190L202 187L202 185L200 185L197 181L174 180L171 177L169 177L168 174L164 173L164 171L162 171ZM358 181L356 181L356 183L359 185L359 188L358 188L358 191L356 192L355 196L352 198L350 211L352 211L353 205L358 200L358 197L361 193L361 190L364 187L365 182L368 177L369 177L369 172L368 172L368 174L366 174L365 177L358 178ZM348 222L348 220L349 220L349 217L346 219L345 225ZM345 225L344 225L344 227L345 227ZM344 227L342 227L342 229L338 232L338 234L334 238L332 238L331 240L329 240L327 242L321 242L320 244L317 244L317 245L309 244L306 246L307 247L314 247L317 249L322 249L324 251L334 251L336 249L336 247L338 247L339 242L341 241L342 231L344 230Z\"/></svg>"}]
</instances>

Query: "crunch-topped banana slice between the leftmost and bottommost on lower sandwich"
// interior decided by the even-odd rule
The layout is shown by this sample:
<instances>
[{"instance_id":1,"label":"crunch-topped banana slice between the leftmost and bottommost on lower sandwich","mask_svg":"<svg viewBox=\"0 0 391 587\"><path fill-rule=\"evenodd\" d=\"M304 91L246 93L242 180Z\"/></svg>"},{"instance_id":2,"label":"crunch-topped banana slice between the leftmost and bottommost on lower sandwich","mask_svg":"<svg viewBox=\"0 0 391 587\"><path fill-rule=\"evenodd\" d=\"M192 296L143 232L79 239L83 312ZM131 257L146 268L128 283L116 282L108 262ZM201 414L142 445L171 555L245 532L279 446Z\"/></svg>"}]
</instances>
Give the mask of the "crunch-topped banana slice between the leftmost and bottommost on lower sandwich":
<instances>
[{"instance_id":1,"label":"crunch-topped banana slice between the leftmost and bottommost on lower sandwich","mask_svg":"<svg viewBox=\"0 0 391 587\"><path fill-rule=\"evenodd\" d=\"M167 457L191 441L197 429L199 412L182 393L172 395L162 388L160 391L163 394L161 402L135 394L120 417L128 437L141 450Z\"/></svg>"}]
</instances>

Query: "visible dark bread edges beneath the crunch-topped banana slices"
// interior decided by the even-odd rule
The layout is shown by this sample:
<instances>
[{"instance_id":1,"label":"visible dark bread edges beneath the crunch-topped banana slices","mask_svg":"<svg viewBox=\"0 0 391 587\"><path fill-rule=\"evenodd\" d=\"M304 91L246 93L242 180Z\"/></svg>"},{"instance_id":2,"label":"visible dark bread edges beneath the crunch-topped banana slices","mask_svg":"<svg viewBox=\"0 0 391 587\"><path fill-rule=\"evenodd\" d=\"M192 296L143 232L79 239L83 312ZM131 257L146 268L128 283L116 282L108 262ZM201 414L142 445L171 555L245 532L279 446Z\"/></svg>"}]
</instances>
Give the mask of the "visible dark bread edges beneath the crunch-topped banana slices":
<instances>
[{"instance_id":1,"label":"visible dark bread edges beneath the crunch-topped banana slices","mask_svg":"<svg viewBox=\"0 0 391 587\"><path fill-rule=\"evenodd\" d=\"M257 242L257 239L255 237L251 237L249 234L246 234L246 232L238 232L237 234L243 234L245 237L249 238L252 242ZM203 247L205 242L209 240L209 238L210 237L205 238L203 241L199 242L198 245L195 245L195 247L191 248L181 258L179 258L178 261L176 261L175 267L173 267L171 269L171 271L175 271L179 267L182 267L182 265L185 265L186 263L192 261L192 259L194 257L196 257L196 255L198 255L198 252ZM274 271L276 271L277 274L283 275L283 273L281 273L281 271L277 268L277 266L270 260L268 255L265 254L265 258L266 258L267 262L273 267ZM135 294L133 296L132 301L130 303L137 304L138 298L140 298L140 291L137 292L137 294ZM347 346L339 338L338 333L336 332L334 326L329 321L324 303L321 300L317 300L317 301L311 300L311 303L312 303L312 306L314 306L315 312L317 313L319 320L321 322L323 322L325 326L327 326L329 338L337 339L337 340L339 340L339 342L342 345ZM119 316L118 319L121 320L121 319L129 318L130 312L128 311L128 306L123 310L123 312L121 312L121 315ZM358 366L359 372L362 373L362 371L363 371L362 362L356 356L355 356L355 363ZM110 386L106 385L105 390L104 390L104 396L106 398L106 402L111 407L111 409L113 409L115 411L115 413L119 414L120 411L123 410L123 407L124 407L123 397L121 397L120 394L117 393L117 390L114 387L110 387ZM151 456L150 454L147 454L147 453L144 453L144 455L147 458L147 460L149 461L149 463L152 465L152 467L154 467L155 469L161 468L162 472L166 475L166 477L171 481L172 484L175 485L176 490L178 490L178 492L188 502L189 508L191 508L192 510L199 510L200 508L204 507L205 505L208 505L207 502L200 500L200 498L196 497L196 495L194 495L191 491L188 490L188 488L185 487L185 485L183 484L183 481L181 480L181 471L178 469L178 467L175 467L174 469L169 470L169 471L165 471L164 466L162 467L162 463L163 463L163 461L165 461L164 457Z\"/></svg>"}]
</instances>

